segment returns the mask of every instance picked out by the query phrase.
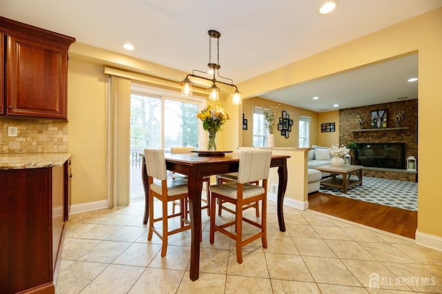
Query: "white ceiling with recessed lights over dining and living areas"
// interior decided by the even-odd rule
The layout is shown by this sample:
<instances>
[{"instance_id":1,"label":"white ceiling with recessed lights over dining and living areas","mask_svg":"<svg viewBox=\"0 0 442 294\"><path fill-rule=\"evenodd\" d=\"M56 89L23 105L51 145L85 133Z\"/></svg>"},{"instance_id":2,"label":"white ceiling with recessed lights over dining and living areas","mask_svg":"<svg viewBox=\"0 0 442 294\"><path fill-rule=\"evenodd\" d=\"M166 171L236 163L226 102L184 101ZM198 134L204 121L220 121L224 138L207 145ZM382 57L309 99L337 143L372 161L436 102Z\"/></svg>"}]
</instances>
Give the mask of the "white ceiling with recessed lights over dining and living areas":
<instances>
[{"instance_id":1,"label":"white ceiling with recessed lights over dining and living areas","mask_svg":"<svg viewBox=\"0 0 442 294\"><path fill-rule=\"evenodd\" d=\"M184 72L206 70L207 30L218 30L220 75L238 84L442 6L442 0L338 0L338 8L323 15L318 9L324 2L0 0L0 15ZM135 50L124 50L123 43L132 43ZM417 83L404 84L403 79L416 76L414 55L261 97L327 111L333 104L349 108L414 99ZM312 101L314 96L320 98Z\"/></svg>"}]
</instances>

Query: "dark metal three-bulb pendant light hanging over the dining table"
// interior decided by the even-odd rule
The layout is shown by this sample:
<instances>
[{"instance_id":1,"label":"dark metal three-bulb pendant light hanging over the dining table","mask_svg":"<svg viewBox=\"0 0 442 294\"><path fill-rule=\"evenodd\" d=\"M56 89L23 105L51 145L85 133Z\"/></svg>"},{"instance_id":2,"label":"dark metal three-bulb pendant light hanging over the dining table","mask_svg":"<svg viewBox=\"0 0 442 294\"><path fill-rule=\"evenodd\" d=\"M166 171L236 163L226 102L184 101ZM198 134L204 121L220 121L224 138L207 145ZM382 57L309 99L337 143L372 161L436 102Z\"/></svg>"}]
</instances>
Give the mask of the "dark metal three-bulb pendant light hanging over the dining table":
<instances>
[{"instance_id":1,"label":"dark metal three-bulb pendant light hanging over the dining table","mask_svg":"<svg viewBox=\"0 0 442 294\"><path fill-rule=\"evenodd\" d=\"M212 86L210 88L208 88L207 90L209 90L209 100L211 101L217 101L220 99L220 88L218 88L218 86L216 86L217 83L220 84L224 84L227 86L231 86L233 88L235 88L235 90L233 91L232 94L232 103L235 105L241 104L241 93L240 91L238 91L238 88L233 84L233 80L229 79L227 77L221 77L220 76L220 37L221 34L220 32L216 31L216 30L209 30L207 32L209 34L209 63L207 63L207 66L209 67L209 70L207 72L203 72L201 70L193 70L191 74L186 75L186 77L180 82L181 86L181 95L183 96L191 96L193 94L192 91L192 86L193 86L193 82L189 79L189 77L196 77L199 79L205 79L207 81L211 81L212 82ZM216 63L212 62L212 38L213 39L217 39L217 48L216 48L216 52L217 52L217 60ZM195 72L201 72L203 74L209 74L212 75L212 78L209 79L208 77L202 77L200 75L195 75ZM218 76L218 78L221 79L226 79L228 81L230 81L230 83L224 82L224 81L218 81L216 79L216 77Z\"/></svg>"}]
</instances>

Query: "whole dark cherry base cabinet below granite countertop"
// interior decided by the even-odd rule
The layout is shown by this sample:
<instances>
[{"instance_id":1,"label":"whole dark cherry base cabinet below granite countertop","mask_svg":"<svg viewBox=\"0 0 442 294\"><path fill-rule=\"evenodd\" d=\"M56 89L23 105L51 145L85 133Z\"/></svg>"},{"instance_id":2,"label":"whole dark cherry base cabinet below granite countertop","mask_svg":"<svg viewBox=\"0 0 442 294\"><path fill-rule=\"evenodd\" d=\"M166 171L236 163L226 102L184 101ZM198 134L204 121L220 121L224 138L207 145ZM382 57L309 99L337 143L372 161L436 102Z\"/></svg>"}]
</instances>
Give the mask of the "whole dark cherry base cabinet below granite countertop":
<instances>
[{"instance_id":1,"label":"whole dark cherry base cabinet below granite countertop","mask_svg":"<svg viewBox=\"0 0 442 294\"><path fill-rule=\"evenodd\" d=\"M67 219L62 166L0 170L0 293L54 293Z\"/></svg>"}]
</instances>

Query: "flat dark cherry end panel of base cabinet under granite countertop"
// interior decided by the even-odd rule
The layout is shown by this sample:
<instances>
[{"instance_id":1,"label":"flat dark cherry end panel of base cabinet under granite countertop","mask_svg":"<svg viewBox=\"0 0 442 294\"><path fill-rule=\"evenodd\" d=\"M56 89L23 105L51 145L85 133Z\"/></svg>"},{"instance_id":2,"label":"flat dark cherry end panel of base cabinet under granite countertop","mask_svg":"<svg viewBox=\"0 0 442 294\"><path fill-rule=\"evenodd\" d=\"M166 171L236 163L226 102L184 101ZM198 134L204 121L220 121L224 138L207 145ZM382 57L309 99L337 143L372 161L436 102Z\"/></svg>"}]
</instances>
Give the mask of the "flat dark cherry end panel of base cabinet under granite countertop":
<instances>
[{"instance_id":1,"label":"flat dark cherry end panel of base cabinet under granite countertop","mask_svg":"<svg viewBox=\"0 0 442 294\"><path fill-rule=\"evenodd\" d=\"M0 293L47 285L52 282L51 168L0 170L0 187Z\"/></svg>"}]
</instances>

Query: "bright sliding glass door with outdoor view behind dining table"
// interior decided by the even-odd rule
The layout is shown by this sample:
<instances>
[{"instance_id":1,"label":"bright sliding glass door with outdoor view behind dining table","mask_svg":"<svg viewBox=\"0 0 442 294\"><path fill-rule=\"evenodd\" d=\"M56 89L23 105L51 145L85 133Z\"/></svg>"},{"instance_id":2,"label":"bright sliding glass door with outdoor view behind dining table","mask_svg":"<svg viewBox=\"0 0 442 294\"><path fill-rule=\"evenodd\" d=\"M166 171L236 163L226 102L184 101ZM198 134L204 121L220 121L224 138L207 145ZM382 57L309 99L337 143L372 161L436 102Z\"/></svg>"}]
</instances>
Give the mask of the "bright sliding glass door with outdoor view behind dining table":
<instances>
[{"instance_id":1,"label":"bright sliding glass door with outdoor view behind dining table","mask_svg":"<svg viewBox=\"0 0 442 294\"><path fill-rule=\"evenodd\" d=\"M144 148L198 148L200 132L196 114L200 99L183 99L166 90L134 84L131 92L131 199L144 197L139 153ZM154 93L153 93L154 92Z\"/></svg>"}]
</instances>

